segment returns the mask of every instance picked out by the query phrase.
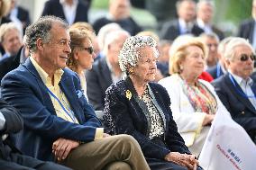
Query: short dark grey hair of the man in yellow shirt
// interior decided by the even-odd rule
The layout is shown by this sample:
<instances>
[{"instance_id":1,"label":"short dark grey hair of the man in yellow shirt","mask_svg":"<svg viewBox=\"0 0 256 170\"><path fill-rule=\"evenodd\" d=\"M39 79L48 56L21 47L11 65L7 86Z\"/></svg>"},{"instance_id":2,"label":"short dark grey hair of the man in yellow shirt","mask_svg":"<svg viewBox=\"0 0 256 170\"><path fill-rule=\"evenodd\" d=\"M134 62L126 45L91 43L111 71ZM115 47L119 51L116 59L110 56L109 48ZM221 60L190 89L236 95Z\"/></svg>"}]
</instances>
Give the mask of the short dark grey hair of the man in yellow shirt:
<instances>
[{"instance_id":1,"label":"short dark grey hair of the man in yellow shirt","mask_svg":"<svg viewBox=\"0 0 256 170\"><path fill-rule=\"evenodd\" d=\"M69 28L68 23L56 16L42 16L37 22L30 25L25 32L26 45L30 52L37 49L36 41L41 38L43 43L50 42L50 29L52 23L59 23L63 28Z\"/></svg>"}]
</instances>

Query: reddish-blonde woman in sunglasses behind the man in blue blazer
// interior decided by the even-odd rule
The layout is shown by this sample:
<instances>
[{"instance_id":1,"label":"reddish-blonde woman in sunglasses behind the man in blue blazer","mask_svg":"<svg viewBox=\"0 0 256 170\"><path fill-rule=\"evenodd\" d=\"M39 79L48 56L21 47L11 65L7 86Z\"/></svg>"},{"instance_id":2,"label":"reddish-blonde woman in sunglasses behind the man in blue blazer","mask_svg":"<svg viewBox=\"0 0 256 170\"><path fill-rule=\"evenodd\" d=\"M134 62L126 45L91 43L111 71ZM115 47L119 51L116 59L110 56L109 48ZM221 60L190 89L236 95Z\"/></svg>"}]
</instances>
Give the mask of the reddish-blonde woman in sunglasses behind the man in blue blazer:
<instances>
[{"instance_id":1,"label":"reddish-blonde woman in sunglasses behind the man in blue blazer","mask_svg":"<svg viewBox=\"0 0 256 170\"><path fill-rule=\"evenodd\" d=\"M91 69L96 54L94 52L91 40L91 31L85 29L73 28L69 30L70 48L69 60L67 66L78 73L81 81L81 87L87 97L87 82L84 74L85 69Z\"/></svg>"}]
</instances>

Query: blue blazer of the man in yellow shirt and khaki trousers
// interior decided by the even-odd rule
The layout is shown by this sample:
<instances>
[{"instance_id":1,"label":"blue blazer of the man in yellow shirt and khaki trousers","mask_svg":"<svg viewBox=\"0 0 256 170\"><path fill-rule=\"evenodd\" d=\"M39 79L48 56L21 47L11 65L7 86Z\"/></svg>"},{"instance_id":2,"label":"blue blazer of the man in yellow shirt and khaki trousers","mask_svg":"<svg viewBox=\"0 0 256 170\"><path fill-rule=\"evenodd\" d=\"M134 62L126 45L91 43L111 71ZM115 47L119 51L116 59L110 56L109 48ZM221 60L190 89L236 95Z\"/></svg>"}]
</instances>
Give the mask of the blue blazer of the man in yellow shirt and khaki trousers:
<instances>
[{"instance_id":1,"label":"blue blazer of the man in yellow shirt and khaki trousers","mask_svg":"<svg viewBox=\"0 0 256 170\"><path fill-rule=\"evenodd\" d=\"M24 129L16 136L16 146L24 154L41 160L53 160L52 143L59 138L89 142L101 127L93 108L81 93L78 75L68 68L59 82L79 124L64 121L56 115L50 94L30 59L9 72L2 80L2 95L18 109Z\"/></svg>"}]
</instances>

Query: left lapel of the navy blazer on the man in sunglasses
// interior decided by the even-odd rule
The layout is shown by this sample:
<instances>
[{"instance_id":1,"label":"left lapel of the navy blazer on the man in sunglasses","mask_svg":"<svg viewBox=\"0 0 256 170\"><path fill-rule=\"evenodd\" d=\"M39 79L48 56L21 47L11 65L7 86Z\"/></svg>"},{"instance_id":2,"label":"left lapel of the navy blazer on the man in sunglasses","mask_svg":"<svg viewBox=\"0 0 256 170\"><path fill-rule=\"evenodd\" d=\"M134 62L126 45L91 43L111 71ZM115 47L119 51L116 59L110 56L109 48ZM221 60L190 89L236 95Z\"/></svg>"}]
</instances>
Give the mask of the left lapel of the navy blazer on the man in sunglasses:
<instances>
[{"instance_id":1,"label":"left lapel of the navy blazer on the man in sunglasses","mask_svg":"<svg viewBox=\"0 0 256 170\"><path fill-rule=\"evenodd\" d=\"M239 94L238 91L242 92L242 88L240 87L240 85L238 85L236 83L236 81L234 80L234 83L236 86L233 85L233 83L230 80L229 77L230 74L226 74L224 76L225 82L228 85L228 87L230 87L231 92L233 93L233 95L241 102L243 103L249 110L251 110L251 112L255 112L255 109L253 107L253 105L251 104L251 102L249 101L248 98L243 97L242 94Z\"/></svg>"}]
</instances>

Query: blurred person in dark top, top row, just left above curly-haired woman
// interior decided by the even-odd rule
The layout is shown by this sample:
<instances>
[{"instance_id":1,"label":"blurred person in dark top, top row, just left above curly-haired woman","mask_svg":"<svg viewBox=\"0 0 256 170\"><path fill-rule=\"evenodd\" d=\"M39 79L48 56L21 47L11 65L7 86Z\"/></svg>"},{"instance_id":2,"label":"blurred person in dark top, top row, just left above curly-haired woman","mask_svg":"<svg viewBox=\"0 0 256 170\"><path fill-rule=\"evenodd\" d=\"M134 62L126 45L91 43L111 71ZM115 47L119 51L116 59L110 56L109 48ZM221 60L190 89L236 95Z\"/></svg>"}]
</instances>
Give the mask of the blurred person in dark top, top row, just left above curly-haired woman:
<instances>
[{"instance_id":1,"label":"blurred person in dark top, top row, just left above curly-haired woman","mask_svg":"<svg viewBox=\"0 0 256 170\"><path fill-rule=\"evenodd\" d=\"M130 10L130 0L109 0L109 13L93 23L96 34L101 27L111 22L116 22L123 30L128 31L131 35L142 31L141 26L133 20Z\"/></svg>"}]
</instances>

